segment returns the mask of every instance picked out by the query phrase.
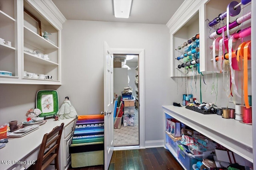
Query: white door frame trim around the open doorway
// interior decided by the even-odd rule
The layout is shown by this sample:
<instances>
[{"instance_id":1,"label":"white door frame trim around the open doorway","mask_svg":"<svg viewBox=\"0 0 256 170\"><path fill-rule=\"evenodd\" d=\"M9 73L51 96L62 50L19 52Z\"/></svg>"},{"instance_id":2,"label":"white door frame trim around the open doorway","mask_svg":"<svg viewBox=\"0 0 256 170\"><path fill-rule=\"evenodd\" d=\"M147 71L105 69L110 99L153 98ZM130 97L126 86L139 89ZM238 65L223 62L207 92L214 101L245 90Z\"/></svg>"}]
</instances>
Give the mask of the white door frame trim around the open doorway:
<instances>
[{"instance_id":1,"label":"white door frame trim around the open doorway","mask_svg":"<svg viewBox=\"0 0 256 170\"><path fill-rule=\"evenodd\" d=\"M116 55L123 55L123 54L130 54L130 55L138 55L138 68L140 72L138 72L138 76L140 77L140 83L138 84L139 89L139 98L138 98L138 121L139 121L139 145L135 146L123 146L123 147L114 147L114 150L122 150L122 149L144 149L145 148L145 90L144 90L144 49L112 49L113 54ZM135 73L133 74L135 78Z\"/></svg>"}]
</instances>

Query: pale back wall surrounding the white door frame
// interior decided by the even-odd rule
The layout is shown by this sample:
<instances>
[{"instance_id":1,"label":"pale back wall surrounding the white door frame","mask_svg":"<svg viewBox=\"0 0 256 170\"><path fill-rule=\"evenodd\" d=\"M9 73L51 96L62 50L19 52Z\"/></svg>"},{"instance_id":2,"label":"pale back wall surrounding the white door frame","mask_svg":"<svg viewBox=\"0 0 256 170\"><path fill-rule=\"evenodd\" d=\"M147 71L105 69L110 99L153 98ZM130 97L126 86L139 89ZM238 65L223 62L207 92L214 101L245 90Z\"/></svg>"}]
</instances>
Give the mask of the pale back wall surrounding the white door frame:
<instances>
[{"instance_id":1,"label":"pale back wall surrounding the white door frame","mask_svg":"<svg viewBox=\"0 0 256 170\"><path fill-rule=\"evenodd\" d=\"M146 141L162 140L162 105L172 104L170 34L166 25L67 20L62 30L60 99L70 97L78 114L103 111L103 45L145 49ZM142 134L141 134L142 135Z\"/></svg>"}]
</instances>

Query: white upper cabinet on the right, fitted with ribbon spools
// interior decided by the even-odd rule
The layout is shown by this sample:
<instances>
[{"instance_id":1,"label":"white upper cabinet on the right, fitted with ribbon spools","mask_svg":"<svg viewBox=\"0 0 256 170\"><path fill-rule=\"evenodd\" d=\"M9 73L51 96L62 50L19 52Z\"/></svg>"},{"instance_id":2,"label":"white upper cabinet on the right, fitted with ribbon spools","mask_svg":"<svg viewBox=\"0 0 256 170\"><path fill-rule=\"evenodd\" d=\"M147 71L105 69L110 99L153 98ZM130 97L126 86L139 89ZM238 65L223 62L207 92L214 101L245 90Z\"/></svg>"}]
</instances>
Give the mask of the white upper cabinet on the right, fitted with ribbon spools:
<instances>
[{"instance_id":1,"label":"white upper cabinet on the right, fitted with ribbon spools","mask_svg":"<svg viewBox=\"0 0 256 170\"><path fill-rule=\"evenodd\" d=\"M213 27L210 27L208 23L220 14L224 14L230 2L232 0L185 0L170 21L168 21L166 25L170 29L171 36L171 77L198 75L198 70L202 74L216 71L214 69L214 53L212 51L214 39L210 38L210 34L226 25L227 18L221 20ZM239 2L240 0L237 3ZM241 5L241 8L238 15L229 17L229 22L236 21L237 18L251 11L250 3ZM250 22L251 20L249 19L238 27L230 29L230 34L249 27ZM200 35L199 40L193 40L196 34ZM227 32L224 31L224 37L226 35ZM222 35L217 37L222 37ZM192 43L191 40L193 40ZM248 40L250 40L250 36L244 39L244 41ZM236 42L233 43L233 49L237 49ZM224 53L227 53L227 50ZM218 55L218 51L216 51L216 55ZM198 60L196 61L196 59ZM190 66L190 61L194 61L193 63L199 62L200 64ZM188 66L191 68L188 68Z\"/></svg>"}]
</instances>

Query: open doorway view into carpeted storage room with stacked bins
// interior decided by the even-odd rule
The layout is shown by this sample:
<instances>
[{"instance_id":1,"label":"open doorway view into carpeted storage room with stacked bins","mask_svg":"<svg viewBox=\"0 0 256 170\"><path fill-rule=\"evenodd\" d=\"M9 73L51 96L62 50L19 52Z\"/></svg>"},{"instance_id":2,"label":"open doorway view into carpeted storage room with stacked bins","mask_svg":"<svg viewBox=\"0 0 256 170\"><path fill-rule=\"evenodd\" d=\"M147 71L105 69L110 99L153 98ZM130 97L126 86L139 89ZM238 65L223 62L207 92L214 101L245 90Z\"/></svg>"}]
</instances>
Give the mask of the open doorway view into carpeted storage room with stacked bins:
<instances>
[{"instance_id":1,"label":"open doorway view into carpeted storage room with stacked bins","mask_svg":"<svg viewBox=\"0 0 256 170\"><path fill-rule=\"evenodd\" d=\"M124 107L114 121L114 147L139 146L139 69L138 55L114 54L114 94L118 101L124 88L128 95L122 96ZM118 106L120 106L118 102ZM122 107L121 107L122 108ZM118 109L117 109L118 110ZM116 110L116 111L117 111ZM122 114L122 115L120 115Z\"/></svg>"}]
</instances>

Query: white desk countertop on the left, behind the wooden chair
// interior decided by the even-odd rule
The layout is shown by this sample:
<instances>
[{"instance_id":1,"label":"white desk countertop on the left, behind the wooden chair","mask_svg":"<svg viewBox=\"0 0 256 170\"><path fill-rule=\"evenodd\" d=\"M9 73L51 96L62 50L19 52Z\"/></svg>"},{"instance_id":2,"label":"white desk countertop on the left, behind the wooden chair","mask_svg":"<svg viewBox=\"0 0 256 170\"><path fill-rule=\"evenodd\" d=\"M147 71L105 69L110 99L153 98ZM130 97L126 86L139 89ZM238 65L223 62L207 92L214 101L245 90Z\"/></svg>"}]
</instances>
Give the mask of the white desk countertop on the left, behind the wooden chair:
<instances>
[{"instance_id":1,"label":"white desk countertop on the left, behind the wooden chair","mask_svg":"<svg viewBox=\"0 0 256 170\"><path fill-rule=\"evenodd\" d=\"M6 170L13 166L12 161L19 161L26 158L29 154L40 148L45 133L49 133L52 129L61 123L66 127L74 119L46 119L44 125L40 125L39 129L25 135L24 137L10 137L6 147L0 149L0 170ZM63 134L63 133L62 133ZM2 161L10 163L2 164Z\"/></svg>"}]
</instances>

